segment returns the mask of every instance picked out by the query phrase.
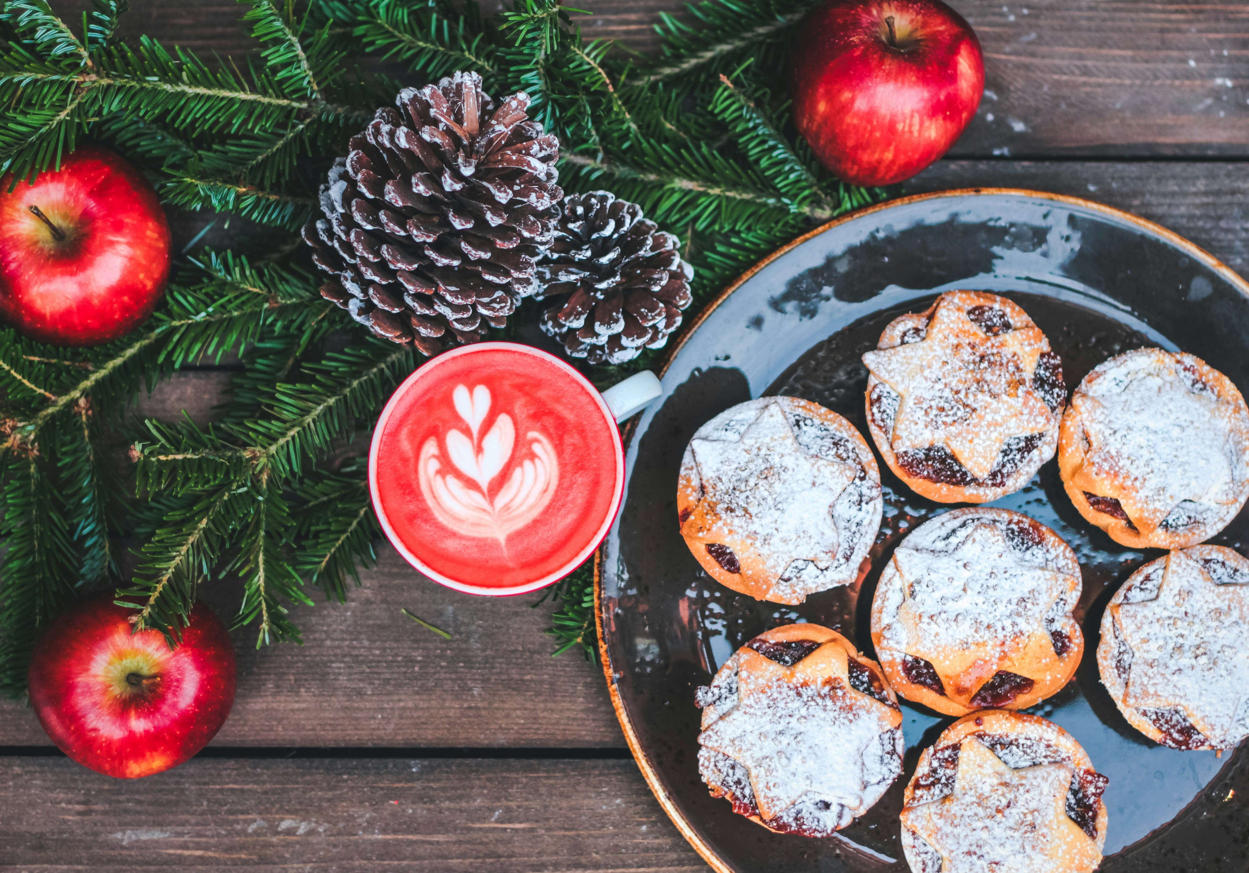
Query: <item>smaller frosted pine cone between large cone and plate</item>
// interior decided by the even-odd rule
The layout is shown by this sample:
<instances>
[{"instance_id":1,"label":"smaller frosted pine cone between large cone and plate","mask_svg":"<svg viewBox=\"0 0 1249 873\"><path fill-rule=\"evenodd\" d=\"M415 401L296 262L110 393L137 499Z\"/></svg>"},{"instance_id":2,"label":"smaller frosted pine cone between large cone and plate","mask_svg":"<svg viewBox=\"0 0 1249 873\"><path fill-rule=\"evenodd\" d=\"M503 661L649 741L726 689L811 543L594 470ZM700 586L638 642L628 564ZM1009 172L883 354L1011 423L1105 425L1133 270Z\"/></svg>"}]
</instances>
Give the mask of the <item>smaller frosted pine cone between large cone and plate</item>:
<instances>
[{"instance_id":1,"label":"smaller frosted pine cone between large cone and plate","mask_svg":"<svg viewBox=\"0 0 1249 873\"><path fill-rule=\"evenodd\" d=\"M592 364L661 348L691 301L694 271L679 246L637 203L607 191L568 197L537 269L537 297L560 298L542 313L542 329Z\"/></svg>"}]
</instances>

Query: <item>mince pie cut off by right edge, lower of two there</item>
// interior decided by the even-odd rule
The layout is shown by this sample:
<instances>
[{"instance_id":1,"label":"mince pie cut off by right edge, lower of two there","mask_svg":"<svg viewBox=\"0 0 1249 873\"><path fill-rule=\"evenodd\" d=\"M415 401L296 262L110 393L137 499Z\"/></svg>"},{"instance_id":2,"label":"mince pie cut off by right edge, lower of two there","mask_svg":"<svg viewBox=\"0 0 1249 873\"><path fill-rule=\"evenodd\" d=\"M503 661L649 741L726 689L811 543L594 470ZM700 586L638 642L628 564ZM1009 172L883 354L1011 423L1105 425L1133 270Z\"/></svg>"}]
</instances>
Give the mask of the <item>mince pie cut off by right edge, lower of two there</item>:
<instances>
[{"instance_id":1,"label":"mince pie cut off by right edge, lower of two there","mask_svg":"<svg viewBox=\"0 0 1249 873\"><path fill-rule=\"evenodd\" d=\"M1097 665L1150 740L1235 748L1249 736L1249 559L1200 545L1137 570L1102 616Z\"/></svg>"}]
</instances>

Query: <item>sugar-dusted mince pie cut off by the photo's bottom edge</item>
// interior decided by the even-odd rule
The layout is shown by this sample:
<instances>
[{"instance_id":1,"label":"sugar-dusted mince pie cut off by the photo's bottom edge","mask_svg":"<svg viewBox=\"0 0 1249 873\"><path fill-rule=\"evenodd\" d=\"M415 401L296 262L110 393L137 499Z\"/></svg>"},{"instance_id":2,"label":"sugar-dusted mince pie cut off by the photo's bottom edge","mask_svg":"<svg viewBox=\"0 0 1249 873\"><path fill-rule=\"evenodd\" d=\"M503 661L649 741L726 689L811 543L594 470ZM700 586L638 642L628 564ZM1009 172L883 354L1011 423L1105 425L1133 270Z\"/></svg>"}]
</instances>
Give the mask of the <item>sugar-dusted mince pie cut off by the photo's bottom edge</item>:
<instances>
[{"instance_id":1,"label":"sugar-dusted mince pie cut off by the photo's bottom edge","mask_svg":"<svg viewBox=\"0 0 1249 873\"><path fill-rule=\"evenodd\" d=\"M902 807L914 873L1089 873L1109 779L1070 733L1020 712L973 712L919 756Z\"/></svg>"}]
</instances>

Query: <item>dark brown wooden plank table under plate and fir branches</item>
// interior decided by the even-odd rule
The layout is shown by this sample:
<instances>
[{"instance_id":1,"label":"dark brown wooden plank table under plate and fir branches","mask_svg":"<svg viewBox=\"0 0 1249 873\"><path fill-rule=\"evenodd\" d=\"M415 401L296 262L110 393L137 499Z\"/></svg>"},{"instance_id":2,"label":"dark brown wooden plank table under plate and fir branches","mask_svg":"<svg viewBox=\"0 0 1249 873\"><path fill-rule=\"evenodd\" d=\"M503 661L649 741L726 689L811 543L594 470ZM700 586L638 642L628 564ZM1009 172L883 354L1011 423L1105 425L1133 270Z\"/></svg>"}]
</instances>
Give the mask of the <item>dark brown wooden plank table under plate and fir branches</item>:
<instances>
[{"instance_id":1,"label":"dark brown wooden plank table under plate and fir branches","mask_svg":"<svg viewBox=\"0 0 1249 873\"><path fill-rule=\"evenodd\" d=\"M953 0L984 46L984 101L908 191L1087 197L1249 273L1249 4L1008 1ZM132 5L131 35L246 50L230 0ZM639 50L654 14L678 9L575 5L598 11L588 34ZM146 412L202 418L225 378L190 369ZM226 612L236 595L206 591ZM601 670L551 657L532 600L422 581L386 546L346 606L300 610L305 646L256 651L240 634L229 723L194 761L139 782L67 761L29 710L0 703L0 869L706 869L629 758Z\"/></svg>"}]
</instances>

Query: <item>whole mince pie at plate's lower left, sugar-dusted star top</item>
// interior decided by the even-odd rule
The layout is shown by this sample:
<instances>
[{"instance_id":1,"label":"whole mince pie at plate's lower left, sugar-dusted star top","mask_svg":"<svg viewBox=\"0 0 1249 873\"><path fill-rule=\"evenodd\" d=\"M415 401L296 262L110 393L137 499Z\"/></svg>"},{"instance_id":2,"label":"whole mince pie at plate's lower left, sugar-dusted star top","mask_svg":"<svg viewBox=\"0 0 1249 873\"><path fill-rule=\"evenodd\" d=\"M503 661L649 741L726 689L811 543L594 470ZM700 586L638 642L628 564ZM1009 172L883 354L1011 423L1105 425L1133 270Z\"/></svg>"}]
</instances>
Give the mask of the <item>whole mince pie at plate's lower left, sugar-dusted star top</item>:
<instances>
[{"instance_id":1,"label":"whole mince pie at plate's lower left, sugar-dusted star top","mask_svg":"<svg viewBox=\"0 0 1249 873\"><path fill-rule=\"evenodd\" d=\"M698 688L698 769L712 797L777 833L828 837L902 773L902 711L837 631L786 625Z\"/></svg>"}]
</instances>

